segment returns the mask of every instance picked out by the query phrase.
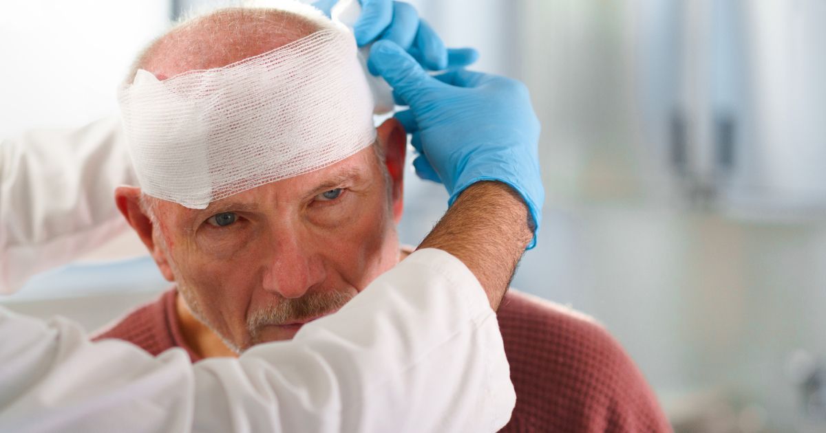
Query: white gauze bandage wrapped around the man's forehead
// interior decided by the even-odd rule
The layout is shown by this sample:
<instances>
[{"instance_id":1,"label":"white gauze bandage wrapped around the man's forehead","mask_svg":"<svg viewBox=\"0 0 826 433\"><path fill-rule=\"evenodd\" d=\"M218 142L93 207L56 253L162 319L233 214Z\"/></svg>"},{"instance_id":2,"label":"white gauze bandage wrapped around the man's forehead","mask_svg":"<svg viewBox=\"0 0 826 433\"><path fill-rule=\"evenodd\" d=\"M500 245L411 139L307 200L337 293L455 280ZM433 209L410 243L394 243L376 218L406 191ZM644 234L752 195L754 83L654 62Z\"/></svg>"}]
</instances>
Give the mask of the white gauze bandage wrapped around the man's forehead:
<instances>
[{"instance_id":1,"label":"white gauze bandage wrapped around the man's forehead","mask_svg":"<svg viewBox=\"0 0 826 433\"><path fill-rule=\"evenodd\" d=\"M164 81L139 70L119 99L141 189L192 209L376 139L355 40L339 25L223 68Z\"/></svg>"}]
</instances>

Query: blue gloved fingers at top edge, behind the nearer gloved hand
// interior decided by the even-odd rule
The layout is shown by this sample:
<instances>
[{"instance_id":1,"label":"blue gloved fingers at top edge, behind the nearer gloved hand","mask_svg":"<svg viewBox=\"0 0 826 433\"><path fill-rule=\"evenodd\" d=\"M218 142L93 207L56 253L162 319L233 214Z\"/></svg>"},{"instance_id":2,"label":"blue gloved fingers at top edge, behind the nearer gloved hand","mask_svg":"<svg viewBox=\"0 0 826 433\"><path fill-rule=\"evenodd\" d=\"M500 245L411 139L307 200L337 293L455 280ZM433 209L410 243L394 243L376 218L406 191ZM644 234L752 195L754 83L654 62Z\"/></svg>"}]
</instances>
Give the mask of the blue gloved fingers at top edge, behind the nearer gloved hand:
<instances>
[{"instance_id":1,"label":"blue gloved fingers at top edge, behind the nearer gloved hand","mask_svg":"<svg viewBox=\"0 0 826 433\"><path fill-rule=\"evenodd\" d=\"M313 6L327 16L338 0L319 0ZM358 0L362 13L353 28L358 46L376 40L391 40L406 49L424 68L431 71L463 68L479 57L471 48L448 49L430 25L419 18L415 7L392 0Z\"/></svg>"}]
</instances>

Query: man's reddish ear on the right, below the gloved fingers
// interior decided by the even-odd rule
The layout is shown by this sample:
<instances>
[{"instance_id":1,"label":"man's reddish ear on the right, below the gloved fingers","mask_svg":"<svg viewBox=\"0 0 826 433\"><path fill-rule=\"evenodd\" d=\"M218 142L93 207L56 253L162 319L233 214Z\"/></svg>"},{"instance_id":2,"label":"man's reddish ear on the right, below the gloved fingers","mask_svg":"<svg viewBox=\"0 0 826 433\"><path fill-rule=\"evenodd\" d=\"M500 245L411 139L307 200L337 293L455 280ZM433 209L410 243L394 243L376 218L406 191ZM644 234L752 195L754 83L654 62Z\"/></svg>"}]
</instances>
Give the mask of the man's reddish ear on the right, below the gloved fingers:
<instances>
[{"instance_id":1,"label":"man's reddish ear on the right, below the gloved fingers","mask_svg":"<svg viewBox=\"0 0 826 433\"><path fill-rule=\"evenodd\" d=\"M379 145L384 148L384 163L392 182L393 220L401 221L404 210L404 173L407 153L407 135L398 120L387 119L377 129Z\"/></svg>"}]
</instances>

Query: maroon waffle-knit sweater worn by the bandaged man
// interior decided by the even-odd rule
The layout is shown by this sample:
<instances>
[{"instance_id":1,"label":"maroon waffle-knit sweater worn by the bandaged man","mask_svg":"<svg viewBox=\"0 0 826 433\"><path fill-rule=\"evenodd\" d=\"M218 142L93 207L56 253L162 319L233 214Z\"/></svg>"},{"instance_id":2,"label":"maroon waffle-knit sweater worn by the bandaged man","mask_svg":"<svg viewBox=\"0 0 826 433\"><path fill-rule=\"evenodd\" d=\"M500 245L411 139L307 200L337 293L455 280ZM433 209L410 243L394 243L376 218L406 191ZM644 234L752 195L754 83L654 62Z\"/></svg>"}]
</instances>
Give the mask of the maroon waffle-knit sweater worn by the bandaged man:
<instances>
[{"instance_id":1,"label":"maroon waffle-knit sweater worn by the bandaged man","mask_svg":"<svg viewBox=\"0 0 826 433\"><path fill-rule=\"evenodd\" d=\"M192 362L177 292L128 313L95 340L120 338L153 355L178 346ZM499 311L516 407L506 432L672 431L634 362L604 328L556 304L510 290Z\"/></svg>"}]
</instances>

